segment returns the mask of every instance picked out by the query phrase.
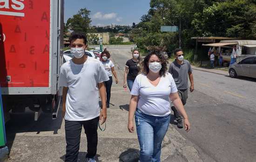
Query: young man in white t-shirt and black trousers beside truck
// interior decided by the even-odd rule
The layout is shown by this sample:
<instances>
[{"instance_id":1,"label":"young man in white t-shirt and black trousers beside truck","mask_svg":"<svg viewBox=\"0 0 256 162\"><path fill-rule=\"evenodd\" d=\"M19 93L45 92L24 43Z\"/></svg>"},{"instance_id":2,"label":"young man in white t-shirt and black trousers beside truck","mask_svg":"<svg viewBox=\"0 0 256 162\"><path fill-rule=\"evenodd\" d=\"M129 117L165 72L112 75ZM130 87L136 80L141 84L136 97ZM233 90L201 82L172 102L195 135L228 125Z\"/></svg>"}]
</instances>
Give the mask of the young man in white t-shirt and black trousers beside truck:
<instances>
[{"instance_id":1,"label":"young man in white t-shirt and black trousers beside truck","mask_svg":"<svg viewBox=\"0 0 256 162\"><path fill-rule=\"evenodd\" d=\"M87 137L88 162L96 162L94 157L98 143L98 122L106 121L106 87L108 75L97 59L84 55L87 39L82 34L69 38L74 58L61 66L59 86L63 87L62 115L65 115L66 160L76 162L80 147L82 126ZM99 92L102 110L99 106Z\"/></svg>"}]
</instances>

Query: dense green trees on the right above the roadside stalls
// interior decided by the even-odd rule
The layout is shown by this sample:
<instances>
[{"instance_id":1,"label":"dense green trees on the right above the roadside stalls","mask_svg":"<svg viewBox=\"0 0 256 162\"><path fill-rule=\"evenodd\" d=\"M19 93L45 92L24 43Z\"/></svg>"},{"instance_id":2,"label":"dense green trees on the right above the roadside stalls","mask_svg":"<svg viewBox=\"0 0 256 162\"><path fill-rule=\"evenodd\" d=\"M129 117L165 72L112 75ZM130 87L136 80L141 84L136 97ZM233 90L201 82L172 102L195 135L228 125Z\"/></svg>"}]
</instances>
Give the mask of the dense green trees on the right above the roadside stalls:
<instances>
[{"instance_id":1,"label":"dense green trees on the right above the roadside stalls","mask_svg":"<svg viewBox=\"0 0 256 162\"><path fill-rule=\"evenodd\" d=\"M165 18L165 19L163 19ZM151 0L148 13L129 32L139 49L165 46L167 51L179 47L178 32L161 32L161 25L181 24L185 58L194 60L195 40L191 37L256 38L255 0ZM198 60L206 60L207 51L198 50Z\"/></svg>"}]
</instances>

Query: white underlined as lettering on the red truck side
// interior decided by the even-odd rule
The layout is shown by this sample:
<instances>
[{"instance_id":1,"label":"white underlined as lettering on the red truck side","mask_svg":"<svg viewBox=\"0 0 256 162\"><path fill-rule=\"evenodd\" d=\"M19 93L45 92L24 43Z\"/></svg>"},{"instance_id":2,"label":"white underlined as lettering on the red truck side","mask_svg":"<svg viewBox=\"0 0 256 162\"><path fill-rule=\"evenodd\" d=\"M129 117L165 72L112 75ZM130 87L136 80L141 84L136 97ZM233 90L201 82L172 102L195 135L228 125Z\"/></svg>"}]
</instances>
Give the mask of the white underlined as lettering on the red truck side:
<instances>
[{"instance_id":1,"label":"white underlined as lettering on the red truck side","mask_svg":"<svg viewBox=\"0 0 256 162\"><path fill-rule=\"evenodd\" d=\"M13 8L14 10L23 10L25 8L24 3L22 2L24 0L0 0L0 9L10 9ZM9 3L11 2L11 4ZM9 12L9 11L0 11L0 15L9 15L9 16L21 16L24 17L25 13L23 12Z\"/></svg>"}]
</instances>

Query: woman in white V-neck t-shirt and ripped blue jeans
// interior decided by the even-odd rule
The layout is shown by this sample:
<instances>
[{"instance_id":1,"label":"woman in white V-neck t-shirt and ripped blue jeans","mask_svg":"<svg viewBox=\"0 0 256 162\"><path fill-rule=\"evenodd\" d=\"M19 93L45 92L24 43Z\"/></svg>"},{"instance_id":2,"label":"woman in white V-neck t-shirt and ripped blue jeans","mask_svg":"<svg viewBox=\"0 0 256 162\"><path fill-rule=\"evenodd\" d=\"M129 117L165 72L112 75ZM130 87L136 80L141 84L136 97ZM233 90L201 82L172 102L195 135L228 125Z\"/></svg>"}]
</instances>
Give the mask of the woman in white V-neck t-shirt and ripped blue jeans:
<instances>
[{"instance_id":1,"label":"woman in white V-neck t-shirt and ripped blue jeans","mask_svg":"<svg viewBox=\"0 0 256 162\"><path fill-rule=\"evenodd\" d=\"M162 140L170 122L170 101L184 118L185 130L189 119L177 93L175 81L167 72L167 60L151 52L142 62L141 74L135 79L131 91L128 131L136 130L140 143L140 162L160 162Z\"/></svg>"}]
</instances>

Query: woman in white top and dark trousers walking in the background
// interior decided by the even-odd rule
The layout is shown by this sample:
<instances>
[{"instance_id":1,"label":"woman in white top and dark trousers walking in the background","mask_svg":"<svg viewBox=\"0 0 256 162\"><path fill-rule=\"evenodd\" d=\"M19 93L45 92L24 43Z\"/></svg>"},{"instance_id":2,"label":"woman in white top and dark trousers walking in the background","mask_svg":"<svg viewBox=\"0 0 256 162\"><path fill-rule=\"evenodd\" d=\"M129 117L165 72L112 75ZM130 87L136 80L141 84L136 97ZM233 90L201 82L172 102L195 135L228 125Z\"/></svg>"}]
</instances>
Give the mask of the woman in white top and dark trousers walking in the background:
<instances>
[{"instance_id":1,"label":"woman in white top and dark trousers walking in the background","mask_svg":"<svg viewBox=\"0 0 256 162\"><path fill-rule=\"evenodd\" d=\"M107 108L109 108L109 102L110 102L110 97L111 97L111 87L112 87L112 83L113 83L113 79L112 79L112 74L115 76L115 84L118 83L118 78L115 72L115 65L114 63L109 60L110 58L110 53L108 52L108 50L103 50L103 52L101 52L101 63L104 66L109 80L105 81L105 86L106 86L106 91L107 91Z\"/></svg>"}]
</instances>

